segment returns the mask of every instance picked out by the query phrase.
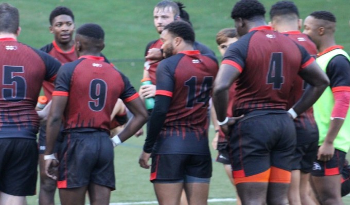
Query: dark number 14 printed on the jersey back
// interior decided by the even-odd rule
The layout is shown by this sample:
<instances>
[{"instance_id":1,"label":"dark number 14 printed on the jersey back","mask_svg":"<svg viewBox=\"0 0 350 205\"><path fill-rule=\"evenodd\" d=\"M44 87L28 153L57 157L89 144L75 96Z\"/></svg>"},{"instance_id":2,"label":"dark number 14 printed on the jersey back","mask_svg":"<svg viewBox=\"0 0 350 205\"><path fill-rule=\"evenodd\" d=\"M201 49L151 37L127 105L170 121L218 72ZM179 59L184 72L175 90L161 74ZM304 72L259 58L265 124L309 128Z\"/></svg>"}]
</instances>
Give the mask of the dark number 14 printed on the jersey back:
<instances>
[{"instance_id":1,"label":"dark number 14 printed on the jersey back","mask_svg":"<svg viewBox=\"0 0 350 205\"><path fill-rule=\"evenodd\" d=\"M205 107L210 98L209 93L213 87L213 79L213 76L205 76L200 87L197 86L196 76L192 76L185 82L185 86L188 87L186 108L193 108L195 103L201 103Z\"/></svg>"}]
</instances>

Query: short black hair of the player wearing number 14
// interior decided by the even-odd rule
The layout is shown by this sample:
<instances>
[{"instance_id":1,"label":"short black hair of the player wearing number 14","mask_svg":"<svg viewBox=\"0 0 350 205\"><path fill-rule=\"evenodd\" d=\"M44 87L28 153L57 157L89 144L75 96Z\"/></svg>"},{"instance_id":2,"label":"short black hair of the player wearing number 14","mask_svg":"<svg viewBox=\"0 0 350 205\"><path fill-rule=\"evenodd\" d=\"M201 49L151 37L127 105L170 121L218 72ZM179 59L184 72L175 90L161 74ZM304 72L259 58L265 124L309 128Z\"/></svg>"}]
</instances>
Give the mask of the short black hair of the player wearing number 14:
<instances>
[{"instance_id":1,"label":"short black hair of the player wearing number 14","mask_svg":"<svg viewBox=\"0 0 350 205\"><path fill-rule=\"evenodd\" d=\"M181 37L188 44L193 45L195 42L195 31L190 24L183 20L175 20L164 27L169 33L176 37Z\"/></svg>"}]
</instances>

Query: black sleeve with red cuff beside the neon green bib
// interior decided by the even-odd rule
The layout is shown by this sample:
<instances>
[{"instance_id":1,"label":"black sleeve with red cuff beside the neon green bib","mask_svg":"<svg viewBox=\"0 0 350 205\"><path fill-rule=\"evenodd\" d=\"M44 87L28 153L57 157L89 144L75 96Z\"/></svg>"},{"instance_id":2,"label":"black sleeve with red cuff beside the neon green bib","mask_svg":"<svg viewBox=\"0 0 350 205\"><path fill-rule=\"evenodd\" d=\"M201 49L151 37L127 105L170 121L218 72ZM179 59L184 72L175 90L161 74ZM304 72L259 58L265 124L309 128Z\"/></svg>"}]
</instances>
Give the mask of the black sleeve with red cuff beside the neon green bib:
<instances>
[{"instance_id":1,"label":"black sleeve with red cuff beside the neon green bib","mask_svg":"<svg viewBox=\"0 0 350 205\"><path fill-rule=\"evenodd\" d=\"M326 73L333 92L350 91L350 62L343 55L337 55L330 60Z\"/></svg>"}]
</instances>

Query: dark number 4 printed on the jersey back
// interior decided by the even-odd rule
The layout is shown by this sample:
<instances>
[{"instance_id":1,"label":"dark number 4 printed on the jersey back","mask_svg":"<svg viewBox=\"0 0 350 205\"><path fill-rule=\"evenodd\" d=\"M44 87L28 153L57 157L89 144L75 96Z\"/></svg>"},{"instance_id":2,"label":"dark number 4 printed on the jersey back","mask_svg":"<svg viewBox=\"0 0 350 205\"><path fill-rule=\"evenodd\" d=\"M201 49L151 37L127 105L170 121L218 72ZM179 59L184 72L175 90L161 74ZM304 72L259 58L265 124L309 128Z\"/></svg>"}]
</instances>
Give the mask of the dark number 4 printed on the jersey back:
<instances>
[{"instance_id":1,"label":"dark number 4 printed on the jersey back","mask_svg":"<svg viewBox=\"0 0 350 205\"><path fill-rule=\"evenodd\" d=\"M283 53L272 53L270 58L269 72L267 73L267 84L273 84L273 89L279 90L284 83L283 76Z\"/></svg>"}]
</instances>

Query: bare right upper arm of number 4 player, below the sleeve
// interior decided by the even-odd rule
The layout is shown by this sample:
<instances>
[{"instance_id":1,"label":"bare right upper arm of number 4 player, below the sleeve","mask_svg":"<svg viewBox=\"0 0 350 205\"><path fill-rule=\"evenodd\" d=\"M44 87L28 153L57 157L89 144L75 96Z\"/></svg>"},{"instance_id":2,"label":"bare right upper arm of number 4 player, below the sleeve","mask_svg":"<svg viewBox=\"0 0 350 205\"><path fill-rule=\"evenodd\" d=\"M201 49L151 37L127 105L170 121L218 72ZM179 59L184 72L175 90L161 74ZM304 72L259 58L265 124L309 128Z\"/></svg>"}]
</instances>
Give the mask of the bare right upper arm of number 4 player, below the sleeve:
<instances>
[{"instance_id":1,"label":"bare right upper arm of number 4 player, below the sleeve","mask_svg":"<svg viewBox=\"0 0 350 205\"><path fill-rule=\"evenodd\" d=\"M320 66L313 61L299 72L299 75L311 86L321 86L329 84L329 79Z\"/></svg>"}]
</instances>

